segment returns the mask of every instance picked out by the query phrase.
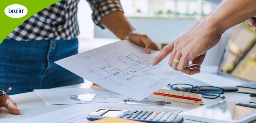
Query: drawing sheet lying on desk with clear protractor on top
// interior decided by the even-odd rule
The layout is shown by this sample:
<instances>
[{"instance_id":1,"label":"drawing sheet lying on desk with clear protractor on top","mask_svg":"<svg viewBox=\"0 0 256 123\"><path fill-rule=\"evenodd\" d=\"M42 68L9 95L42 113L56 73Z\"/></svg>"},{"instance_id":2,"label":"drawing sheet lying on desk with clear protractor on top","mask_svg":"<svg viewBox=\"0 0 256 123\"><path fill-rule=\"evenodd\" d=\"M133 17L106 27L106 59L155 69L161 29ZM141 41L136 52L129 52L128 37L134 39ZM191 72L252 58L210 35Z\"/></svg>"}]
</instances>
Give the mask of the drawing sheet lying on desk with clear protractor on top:
<instances>
[{"instance_id":1,"label":"drawing sheet lying on desk with clear protractor on top","mask_svg":"<svg viewBox=\"0 0 256 123\"><path fill-rule=\"evenodd\" d=\"M112 91L99 89L63 88L63 89L34 89L48 105L58 104L80 104L80 103L102 103L102 102L123 102L125 96ZM77 101L70 97L73 95L92 93L96 94L92 101Z\"/></svg>"}]
</instances>

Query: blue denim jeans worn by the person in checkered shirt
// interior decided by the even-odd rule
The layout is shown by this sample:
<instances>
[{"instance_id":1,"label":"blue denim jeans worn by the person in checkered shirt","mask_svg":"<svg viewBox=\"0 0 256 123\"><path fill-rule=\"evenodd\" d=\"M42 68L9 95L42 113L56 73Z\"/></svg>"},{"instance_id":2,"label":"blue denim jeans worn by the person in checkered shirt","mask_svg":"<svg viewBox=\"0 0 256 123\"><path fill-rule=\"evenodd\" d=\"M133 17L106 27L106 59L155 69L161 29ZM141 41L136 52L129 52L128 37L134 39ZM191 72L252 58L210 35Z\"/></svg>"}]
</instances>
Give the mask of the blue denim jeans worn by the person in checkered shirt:
<instances>
[{"instance_id":1,"label":"blue denim jeans worn by the person in checkered shirt","mask_svg":"<svg viewBox=\"0 0 256 123\"><path fill-rule=\"evenodd\" d=\"M77 54L78 40L4 40L0 44L0 90L8 95L82 83L83 78L55 64Z\"/></svg>"}]
</instances>

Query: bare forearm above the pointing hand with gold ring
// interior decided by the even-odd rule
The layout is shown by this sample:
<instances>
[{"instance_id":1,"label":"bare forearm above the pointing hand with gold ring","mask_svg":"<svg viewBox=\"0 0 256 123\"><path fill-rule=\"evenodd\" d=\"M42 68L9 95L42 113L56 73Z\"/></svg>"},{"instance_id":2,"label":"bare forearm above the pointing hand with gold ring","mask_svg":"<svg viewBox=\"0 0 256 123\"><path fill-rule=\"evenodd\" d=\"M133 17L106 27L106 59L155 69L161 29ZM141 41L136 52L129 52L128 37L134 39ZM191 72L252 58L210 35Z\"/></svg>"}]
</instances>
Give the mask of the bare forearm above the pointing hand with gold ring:
<instances>
[{"instance_id":1,"label":"bare forearm above the pointing hand with gold ring","mask_svg":"<svg viewBox=\"0 0 256 123\"><path fill-rule=\"evenodd\" d=\"M256 15L255 0L223 0L220 5L206 18L206 24L211 28L224 33L235 26Z\"/></svg>"}]
</instances>

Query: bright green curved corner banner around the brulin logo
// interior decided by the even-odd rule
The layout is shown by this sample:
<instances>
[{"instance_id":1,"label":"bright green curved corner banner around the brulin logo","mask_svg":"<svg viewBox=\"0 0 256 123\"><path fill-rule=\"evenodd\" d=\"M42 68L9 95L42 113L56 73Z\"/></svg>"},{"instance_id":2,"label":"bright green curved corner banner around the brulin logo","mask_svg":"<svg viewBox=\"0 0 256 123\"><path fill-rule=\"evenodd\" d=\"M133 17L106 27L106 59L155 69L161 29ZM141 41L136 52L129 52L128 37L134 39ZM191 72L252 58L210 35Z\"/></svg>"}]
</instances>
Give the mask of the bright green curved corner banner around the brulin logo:
<instances>
[{"instance_id":1,"label":"bright green curved corner banner around the brulin logo","mask_svg":"<svg viewBox=\"0 0 256 123\"><path fill-rule=\"evenodd\" d=\"M59 2L60 0L2 0L0 3L0 44L22 22L38 13L44 8ZM21 18L11 18L4 12L7 6L20 4L28 9L28 13Z\"/></svg>"}]
</instances>

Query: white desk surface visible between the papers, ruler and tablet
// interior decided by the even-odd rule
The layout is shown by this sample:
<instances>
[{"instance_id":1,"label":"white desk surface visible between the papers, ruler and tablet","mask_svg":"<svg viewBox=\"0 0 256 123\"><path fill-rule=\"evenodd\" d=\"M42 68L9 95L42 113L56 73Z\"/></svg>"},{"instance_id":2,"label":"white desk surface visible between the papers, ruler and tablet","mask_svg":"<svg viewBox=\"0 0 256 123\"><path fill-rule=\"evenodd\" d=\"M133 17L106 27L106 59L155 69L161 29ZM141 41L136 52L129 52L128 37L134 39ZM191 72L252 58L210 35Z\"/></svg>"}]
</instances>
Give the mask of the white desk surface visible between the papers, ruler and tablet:
<instances>
[{"instance_id":1,"label":"white desk surface visible between the papers, ruler and tablet","mask_svg":"<svg viewBox=\"0 0 256 123\"><path fill-rule=\"evenodd\" d=\"M64 86L60 88L89 88L92 85L91 82L86 81L82 84L77 85L70 85ZM206 99L204 98L203 101L205 105L211 104L220 100L230 100L230 101L241 101L241 102L249 102L249 95L236 93L236 92L225 92L223 94L225 99ZM35 93L35 92L28 92L28 93L20 93L10 96L13 101L17 103L18 108L20 109L19 115L10 114L6 108L0 108L0 122L1 123L9 123L13 121L22 120L25 118L37 116L40 114L52 112L58 109L63 109L69 106L73 106L75 104L69 105L46 105L46 103ZM148 104L148 103L141 103L141 102L128 102L129 104L139 104L139 105L149 105L154 107L162 107L162 108L170 108L170 109L181 109L184 111L188 111L191 109L195 109L201 107L203 105L191 105L179 102L172 102L171 105L157 105L157 104ZM183 111L183 112L184 112ZM184 123L193 123L196 121L185 120ZM256 122L256 121L255 121Z\"/></svg>"}]
</instances>

